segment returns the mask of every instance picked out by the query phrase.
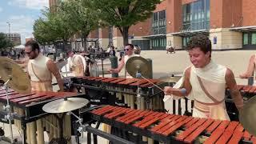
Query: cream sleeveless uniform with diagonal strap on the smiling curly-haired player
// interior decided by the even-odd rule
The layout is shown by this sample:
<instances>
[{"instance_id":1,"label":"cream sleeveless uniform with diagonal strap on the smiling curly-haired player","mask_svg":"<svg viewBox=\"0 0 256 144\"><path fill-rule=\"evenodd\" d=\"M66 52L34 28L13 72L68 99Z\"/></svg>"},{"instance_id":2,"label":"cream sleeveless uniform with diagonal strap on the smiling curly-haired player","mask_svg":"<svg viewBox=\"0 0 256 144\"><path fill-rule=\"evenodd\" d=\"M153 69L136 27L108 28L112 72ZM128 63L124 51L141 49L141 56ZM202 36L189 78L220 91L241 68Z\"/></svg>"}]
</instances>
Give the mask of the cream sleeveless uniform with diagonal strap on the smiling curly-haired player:
<instances>
[{"instance_id":1,"label":"cream sleeveless uniform with diagonal strap on the smiling curly-haired player","mask_svg":"<svg viewBox=\"0 0 256 144\"><path fill-rule=\"evenodd\" d=\"M194 100L193 116L199 118L213 118L230 120L225 105L226 91L226 67L210 62L203 68L191 66L190 84L192 90L188 95L190 100ZM184 82L182 77L174 88L180 88ZM200 84L201 81L201 84ZM202 86L204 86L204 89ZM206 94L208 93L208 94ZM174 96L174 95L173 95ZM181 98L174 96L174 98ZM164 99L166 109L171 109L172 98L166 96Z\"/></svg>"}]
</instances>

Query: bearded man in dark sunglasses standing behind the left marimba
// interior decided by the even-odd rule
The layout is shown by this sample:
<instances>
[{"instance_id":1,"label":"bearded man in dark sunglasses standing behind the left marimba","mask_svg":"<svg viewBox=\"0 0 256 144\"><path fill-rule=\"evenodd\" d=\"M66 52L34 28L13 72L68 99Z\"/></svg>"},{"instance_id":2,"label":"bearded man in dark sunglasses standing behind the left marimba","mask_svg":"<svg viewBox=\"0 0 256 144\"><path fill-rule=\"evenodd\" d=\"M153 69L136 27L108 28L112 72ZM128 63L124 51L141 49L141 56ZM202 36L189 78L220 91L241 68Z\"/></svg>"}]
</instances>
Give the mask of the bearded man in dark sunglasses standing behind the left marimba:
<instances>
[{"instance_id":1,"label":"bearded man in dark sunglasses standing behind the left marimba","mask_svg":"<svg viewBox=\"0 0 256 144\"><path fill-rule=\"evenodd\" d=\"M56 78L59 91L64 90L61 74L58 67L48 57L42 55L38 42L28 41L25 44L25 53L30 58L27 72L31 80L31 90L53 91L52 74Z\"/></svg>"}]
</instances>

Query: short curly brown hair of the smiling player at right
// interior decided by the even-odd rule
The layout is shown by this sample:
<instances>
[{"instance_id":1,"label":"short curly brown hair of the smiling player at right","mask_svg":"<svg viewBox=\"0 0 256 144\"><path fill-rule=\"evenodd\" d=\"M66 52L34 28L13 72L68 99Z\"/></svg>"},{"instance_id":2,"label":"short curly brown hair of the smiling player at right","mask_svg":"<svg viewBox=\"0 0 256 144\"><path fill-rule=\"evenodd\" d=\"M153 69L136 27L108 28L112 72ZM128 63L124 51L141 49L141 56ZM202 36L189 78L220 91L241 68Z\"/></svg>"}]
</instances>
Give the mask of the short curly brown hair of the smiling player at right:
<instances>
[{"instance_id":1,"label":"short curly brown hair of the smiling player at right","mask_svg":"<svg viewBox=\"0 0 256 144\"><path fill-rule=\"evenodd\" d=\"M211 42L206 35L198 34L190 38L190 41L186 45L186 50L192 50L196 47L199 47L204 54L210 51L211 56Z\"/></svg>"}]
</instances>

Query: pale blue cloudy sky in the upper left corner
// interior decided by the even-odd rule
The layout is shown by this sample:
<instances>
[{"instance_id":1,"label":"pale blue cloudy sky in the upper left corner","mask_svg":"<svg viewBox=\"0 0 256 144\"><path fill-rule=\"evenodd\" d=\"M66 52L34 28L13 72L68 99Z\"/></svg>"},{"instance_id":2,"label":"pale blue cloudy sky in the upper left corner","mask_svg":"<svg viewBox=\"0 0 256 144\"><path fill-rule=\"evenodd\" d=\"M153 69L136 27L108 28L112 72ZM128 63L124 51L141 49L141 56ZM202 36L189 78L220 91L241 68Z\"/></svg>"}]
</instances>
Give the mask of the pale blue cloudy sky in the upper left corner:
<instances>
[{"instance_id":1,"label":"pale blue cloudy sky in the upper left corner","mask_svg":"<svg viewBox=\"0 0 256 144\"><path fill-rule=\"evenodd\" d=\"M25 38L33 38L34 20L38 19L41 10L48 7L49 0L0 0L0 32L9 33L7 22L10 22L10 33L21 34L22 44Z\"/></svg>"}]
</instances>

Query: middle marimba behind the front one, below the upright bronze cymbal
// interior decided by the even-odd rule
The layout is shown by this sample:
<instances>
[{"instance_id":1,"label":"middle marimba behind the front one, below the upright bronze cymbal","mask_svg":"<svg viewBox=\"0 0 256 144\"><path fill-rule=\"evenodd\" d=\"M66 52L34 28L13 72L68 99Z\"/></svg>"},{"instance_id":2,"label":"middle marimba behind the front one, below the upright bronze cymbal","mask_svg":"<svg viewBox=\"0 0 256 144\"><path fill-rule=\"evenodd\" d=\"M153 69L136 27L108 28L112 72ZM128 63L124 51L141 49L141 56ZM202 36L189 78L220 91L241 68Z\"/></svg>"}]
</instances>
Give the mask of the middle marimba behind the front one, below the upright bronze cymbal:
<instances>
[{"instance_id":1,"label":"middle marimba behind the front one, below the upright bronze cymbal","mask_svg":"<svg viewBox=\"0 0 256 144\"><path fill-rule=\"evenodd\" d=\"M161 88L168 85L167 82L161 82L158 79L149 80ZM71 81L74 86L84 87L86 90L107 91L112 95L115 94L115 105L118 106L142 110L163 110L164 93L145 79L74 77ZM138 94L141 98L137 97Z\"/></svg>"}]
</instances>

